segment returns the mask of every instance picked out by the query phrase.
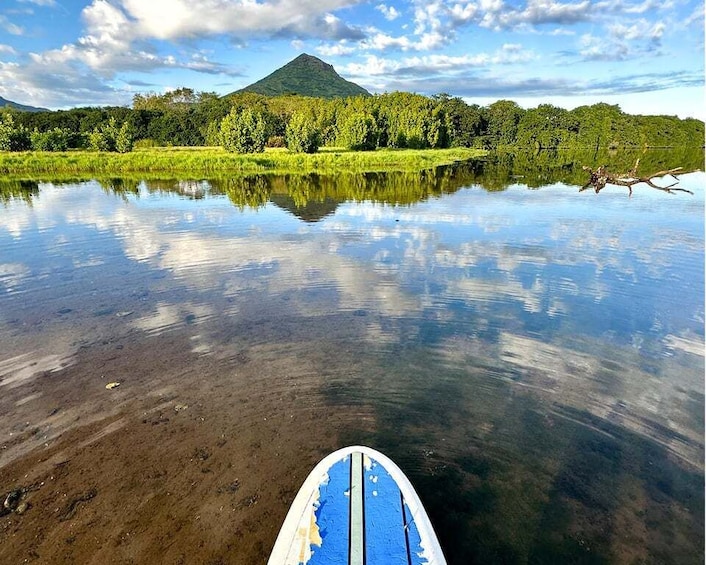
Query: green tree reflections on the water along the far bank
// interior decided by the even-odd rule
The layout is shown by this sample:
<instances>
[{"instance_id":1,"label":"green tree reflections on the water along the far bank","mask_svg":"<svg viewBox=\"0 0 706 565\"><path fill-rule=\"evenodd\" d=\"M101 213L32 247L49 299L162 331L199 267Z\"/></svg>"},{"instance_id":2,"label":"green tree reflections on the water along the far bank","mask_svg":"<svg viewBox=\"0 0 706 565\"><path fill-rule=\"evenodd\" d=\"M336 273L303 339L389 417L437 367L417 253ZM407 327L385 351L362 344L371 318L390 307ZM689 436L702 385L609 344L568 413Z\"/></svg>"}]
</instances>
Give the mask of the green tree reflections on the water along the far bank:
<instances>
[{"instance_id":1,"label":"green tree reflections on the water along the far bank","mask_svg":"<svg viewBox=\"0 0 706 565\"><path fill-rule=\"evenodd\" d=\"M197 151L199 150L163 150L164 153L177 156L180 153ZM201 151L207 153L209 150ZM324 150L316 157L321 158L327 152L328 150ZM280 153L286 154L282 151ZM377 153L363 155L370 157ZM393 153L404 155L411 151ZM418 153L438 155L447 152L441 150ZM221 154L228 157L228 154L223 151ZM353 157L361 154L348 152L347 155ZM73 174L35 175L34 180L28 180L26 176L13 178L0 175L0 203L7 203L12 199L31 202L39 194L39 184L42 180L48 180L54 184L76 184L97 180L106 191L123 197L139 195L143 191L175 193L195 199L206 195L226 195L240 208L264 206L269 199L269 201L290 202L298 209L297 214L315 215L328 210L335 202L369 200L387 204L413 204L469 186L495 192L518 184L536 189L548 184L562 183L575 186L578 190L588 178L583 169L584 166L606 166L610 170L622 171L633 166L637 158L640 158L640 169L644 168L646 171L662 170L668 168L670 163L680 163L687 171L704 170L704 152L699 148L619 150L597 153L593 151L498 151L490 152L479 159L455 162L448 166L424 167L420 162L408 169L388 168L379 172L366 171L365 167L361 167L357 172L334 167L325 170L290 169L279 172L270 170L209 175L179 171L138 171L122 174L89 174L78 171ZM649 190L649 187L647 189Z\"/></svg>"}]
</instances>

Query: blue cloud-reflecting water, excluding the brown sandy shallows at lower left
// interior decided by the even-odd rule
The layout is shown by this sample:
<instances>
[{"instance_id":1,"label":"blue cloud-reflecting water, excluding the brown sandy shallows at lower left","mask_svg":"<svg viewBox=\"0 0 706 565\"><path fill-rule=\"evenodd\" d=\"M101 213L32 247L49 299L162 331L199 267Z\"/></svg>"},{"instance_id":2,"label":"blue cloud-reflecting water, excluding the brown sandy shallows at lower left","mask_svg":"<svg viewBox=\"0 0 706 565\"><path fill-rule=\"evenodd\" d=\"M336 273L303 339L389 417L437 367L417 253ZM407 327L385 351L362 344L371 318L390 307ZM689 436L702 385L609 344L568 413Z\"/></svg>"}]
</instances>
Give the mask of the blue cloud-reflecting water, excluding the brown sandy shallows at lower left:
<instances>
[{"instance_id":1,"label":"blue cloud-reflecting water, excluding the brown sandy shallows at lower left","mask_svg":"<svg viewBox=\"0 0 706 565\"><path fill-rule=\"evenodd\" d=\"M703 562L705 175L393 177L16 190L0 391L96 336L266 346L311 358L340 445L400 463L452 563Z\"/></svg>"}]
</instances>

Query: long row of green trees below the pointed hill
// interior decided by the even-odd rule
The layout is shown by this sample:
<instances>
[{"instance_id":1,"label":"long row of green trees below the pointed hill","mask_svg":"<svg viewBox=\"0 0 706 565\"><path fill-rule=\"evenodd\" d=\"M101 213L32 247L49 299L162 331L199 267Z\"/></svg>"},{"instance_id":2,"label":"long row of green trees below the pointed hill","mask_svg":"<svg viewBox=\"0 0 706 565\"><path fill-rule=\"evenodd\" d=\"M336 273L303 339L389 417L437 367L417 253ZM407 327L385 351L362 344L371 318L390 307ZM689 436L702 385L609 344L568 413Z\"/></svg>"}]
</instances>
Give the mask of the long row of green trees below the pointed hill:
<instances>
[{"instance_id":1,"label":"long row of green trees below the pointed hill","mask_svg":"<svg viewBox=\"0 0 706 565\"><path fill-rule=\"evenodd\" d=\"M488 106L458 97L394 92L337 99L245 92L227 97L182 88L138 94L131 108L0 112L0 150L223 146L258 152L288 147L635 148L702 146L704 123L676 116L625 114L617 105L523 109L510 100Z\"/></svg>"}]
</instances>

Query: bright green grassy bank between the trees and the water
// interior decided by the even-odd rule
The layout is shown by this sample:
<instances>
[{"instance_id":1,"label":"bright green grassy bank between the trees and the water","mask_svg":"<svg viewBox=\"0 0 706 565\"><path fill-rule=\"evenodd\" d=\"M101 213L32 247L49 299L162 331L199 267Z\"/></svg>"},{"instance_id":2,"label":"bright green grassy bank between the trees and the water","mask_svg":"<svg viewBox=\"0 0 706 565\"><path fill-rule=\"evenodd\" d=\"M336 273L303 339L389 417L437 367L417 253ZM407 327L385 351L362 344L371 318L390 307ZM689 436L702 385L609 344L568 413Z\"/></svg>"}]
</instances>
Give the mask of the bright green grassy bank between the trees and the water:
<instances>
[{"instance_id":1,"label":"bright green grassy bank between the trees and the water","mask_svg":"<svg viewBox=\"0 0 706 565\"><path fill-rule=\"evenodd\" d=\"M139 149L132 153L41 151L0 153L6 177L169 173L220 176L259 172L413 171L484 155L478 149L346 151L323 149L312 155L272 149L258 154L227 153L217 147Z\"/></svg>"}]
</instances>

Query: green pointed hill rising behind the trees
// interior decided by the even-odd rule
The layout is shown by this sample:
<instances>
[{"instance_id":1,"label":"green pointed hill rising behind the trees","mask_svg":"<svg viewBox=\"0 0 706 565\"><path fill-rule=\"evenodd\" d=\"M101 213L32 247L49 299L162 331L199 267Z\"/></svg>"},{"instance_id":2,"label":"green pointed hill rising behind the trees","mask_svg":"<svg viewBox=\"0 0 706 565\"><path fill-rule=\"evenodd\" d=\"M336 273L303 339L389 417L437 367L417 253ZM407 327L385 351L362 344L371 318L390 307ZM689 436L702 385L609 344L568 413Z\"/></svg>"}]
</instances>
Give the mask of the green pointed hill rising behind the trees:
<instances>
[{"instance_id":1,"label":"green pointed hill rising behind the trees","mask_svg":"<svg viewBox=\"0 0 706 565\"><path fill-rule=\"evenodd\" d=\"M341 78L333 66L306 53L237 92L256 92L265 96L300 94L316 98L370 96L362 86Z\"/></svg>"}]
</instances>

